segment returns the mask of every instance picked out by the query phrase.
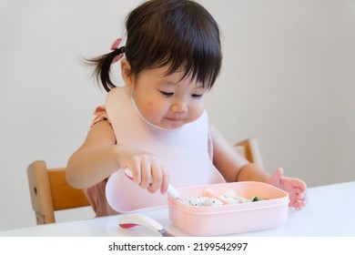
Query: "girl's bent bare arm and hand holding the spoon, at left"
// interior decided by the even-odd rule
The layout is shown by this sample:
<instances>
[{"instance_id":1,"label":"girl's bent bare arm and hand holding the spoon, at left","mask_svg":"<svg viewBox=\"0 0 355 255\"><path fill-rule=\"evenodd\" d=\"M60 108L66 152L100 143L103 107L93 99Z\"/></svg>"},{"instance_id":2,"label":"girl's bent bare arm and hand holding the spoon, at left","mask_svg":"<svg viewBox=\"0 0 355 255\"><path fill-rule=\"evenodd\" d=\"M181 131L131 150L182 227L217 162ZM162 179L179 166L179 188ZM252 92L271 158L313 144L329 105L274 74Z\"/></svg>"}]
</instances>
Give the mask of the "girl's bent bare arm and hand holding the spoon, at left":
<instances>
[{"instance_id":1,"label":"girl's bent bare arm and hand holding the spoon, at left","mask_svg":"<svg viewBox=\"0 0 355 255\"><path fill-rule=\"evenodd\" d=\"M150 192L167 190L166 170L154 155L116 144L108 121L97 122L90 128L84 144L69 158L66 179L77 189L85 189L106 179L120 168L130 168L134 181ZM148 180L153 179L153 183Z\"/></svg>"}]
</instances>

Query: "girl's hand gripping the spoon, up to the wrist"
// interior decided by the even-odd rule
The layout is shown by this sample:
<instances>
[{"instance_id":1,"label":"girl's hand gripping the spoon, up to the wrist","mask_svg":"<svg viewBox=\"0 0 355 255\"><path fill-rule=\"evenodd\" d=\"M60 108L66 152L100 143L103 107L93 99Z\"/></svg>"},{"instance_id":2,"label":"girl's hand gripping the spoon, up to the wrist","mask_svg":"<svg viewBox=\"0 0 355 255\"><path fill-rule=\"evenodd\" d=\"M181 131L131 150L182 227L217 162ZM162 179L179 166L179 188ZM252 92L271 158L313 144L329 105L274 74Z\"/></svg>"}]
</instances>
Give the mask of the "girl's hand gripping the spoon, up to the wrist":
<instances>
[{"instance_id":1,"label":"girl's hand gripping the spoon, up to the wrist","mask_svg":"<svg viewBox=\"0 0 355 255\"><path fill-rule=\"evenodd\" d=\"M133 175L133 181L142 189L154 193L158 189L163 194L167 191L167 170L160 164L153 154L130 148L117 146L117 161L121 168L129 168Z\"/></svg>"}]
</instances>

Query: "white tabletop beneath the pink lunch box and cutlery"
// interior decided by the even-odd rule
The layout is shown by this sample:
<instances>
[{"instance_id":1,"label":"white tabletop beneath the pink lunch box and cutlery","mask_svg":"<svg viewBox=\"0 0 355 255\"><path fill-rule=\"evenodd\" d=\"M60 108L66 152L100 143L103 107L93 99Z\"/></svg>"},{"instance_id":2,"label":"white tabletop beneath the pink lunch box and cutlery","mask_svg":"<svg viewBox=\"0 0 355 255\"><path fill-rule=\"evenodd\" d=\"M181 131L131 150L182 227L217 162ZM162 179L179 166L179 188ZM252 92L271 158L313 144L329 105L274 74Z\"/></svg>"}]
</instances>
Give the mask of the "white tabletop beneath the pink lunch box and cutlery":
<instances>
[{"instance_id":1,"label":"white tabletop beneath the pink lunch box and cutlery","mask_svg":"<svg viewBox=\"0 0 355 255\"><path fill-rule=\"evenodd\" d=\"M276 229L238 234L243 237L355 237L355 181L310 188L305 209L289 209L288 221ZM187 236L168 219L167 209L142 212L156 219L166 230L177 236ZM119 215L74 222L47 224L33 228L0 231L0 236L153 236L153 230L136 227L124 230L117 226ZM267 219L266 219L267 220Z\"/></svg>"}]
</instances>

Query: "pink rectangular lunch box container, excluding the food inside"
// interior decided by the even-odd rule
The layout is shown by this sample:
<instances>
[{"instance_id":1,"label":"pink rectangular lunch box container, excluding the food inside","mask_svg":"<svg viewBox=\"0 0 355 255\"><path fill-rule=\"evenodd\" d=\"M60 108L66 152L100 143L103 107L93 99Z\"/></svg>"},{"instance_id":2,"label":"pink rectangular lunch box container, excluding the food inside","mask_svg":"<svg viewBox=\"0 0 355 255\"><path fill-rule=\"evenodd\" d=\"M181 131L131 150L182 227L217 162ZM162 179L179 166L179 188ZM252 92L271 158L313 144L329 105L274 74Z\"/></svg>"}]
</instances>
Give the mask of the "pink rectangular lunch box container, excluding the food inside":
<instances>
[{"instance_id":1,"label":"pink rectangular lunch box container, excluding the food inside","mask_svg":"<svg viewBox=\"0 0 355 255\"><path fill-rule=\"evenodd\" d=\"M194 236L218 236L279 227L287 221L289 194L269 184L256 181L222 183L177 189L179 197L201 197L205 190L222 195L233 190L236 195L255 202L215 207L190 206L168 197L169 218L179 229Z\"/></svg>"}]
</instances>

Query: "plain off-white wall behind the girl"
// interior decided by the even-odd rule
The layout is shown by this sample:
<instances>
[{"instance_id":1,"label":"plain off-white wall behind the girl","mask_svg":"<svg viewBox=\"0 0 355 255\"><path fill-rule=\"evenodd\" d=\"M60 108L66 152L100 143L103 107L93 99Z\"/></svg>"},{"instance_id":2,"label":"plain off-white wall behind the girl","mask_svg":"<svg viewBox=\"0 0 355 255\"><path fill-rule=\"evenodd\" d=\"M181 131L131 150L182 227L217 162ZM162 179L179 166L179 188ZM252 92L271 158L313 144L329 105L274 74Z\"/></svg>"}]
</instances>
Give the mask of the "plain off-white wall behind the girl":
<instances>
[{"instance_id":1,"label":"plain off-white wall behind the girl","mask_svg":"<svg viewBox=\"0 0 355 255\"><path fill-rule=\"evenodd\" d=\"M210 122L230 144L257 138L269 172L281 166L309 187L354 180L355 2L198 2L224 54ZM26 167L65 166L86 137L106 95L79 59L106 53L138 3L0 0L0 230L35 225Z\"/></svg>"}]
</instances>

